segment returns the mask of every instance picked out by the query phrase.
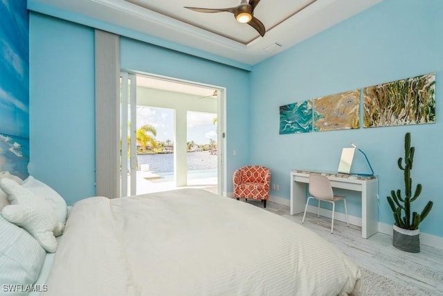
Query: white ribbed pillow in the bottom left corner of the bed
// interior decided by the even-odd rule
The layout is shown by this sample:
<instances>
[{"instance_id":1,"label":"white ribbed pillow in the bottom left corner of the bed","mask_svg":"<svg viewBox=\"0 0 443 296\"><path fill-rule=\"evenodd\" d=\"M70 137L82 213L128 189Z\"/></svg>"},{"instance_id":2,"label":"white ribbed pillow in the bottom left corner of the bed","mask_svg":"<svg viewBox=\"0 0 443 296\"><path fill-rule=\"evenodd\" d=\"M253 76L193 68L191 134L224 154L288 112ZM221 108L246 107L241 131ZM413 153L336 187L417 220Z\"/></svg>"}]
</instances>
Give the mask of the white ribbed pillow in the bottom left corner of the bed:
<instances>
[{"instance_id":1,"label":"white ribbed pillow in the bottom left corner of the bed","mask_svg":"<svg viewBox=\"0 0 443 296\"><path fill-rule=\"evenodd\" d=\"M9 223L2 216L0 237L0 283L33 284L42 269L46 252L25 229Z\"/></svg>"}]
</instances>

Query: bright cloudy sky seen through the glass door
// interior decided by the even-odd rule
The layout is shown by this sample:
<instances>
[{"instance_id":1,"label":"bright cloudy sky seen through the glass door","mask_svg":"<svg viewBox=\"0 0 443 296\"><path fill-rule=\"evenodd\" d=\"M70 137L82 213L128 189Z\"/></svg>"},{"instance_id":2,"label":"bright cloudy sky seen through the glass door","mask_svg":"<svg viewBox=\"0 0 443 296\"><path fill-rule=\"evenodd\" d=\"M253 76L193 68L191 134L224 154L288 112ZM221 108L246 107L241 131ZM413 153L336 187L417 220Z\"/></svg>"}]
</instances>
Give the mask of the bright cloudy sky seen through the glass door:
<instances>
[{"instance_id":1,"label":"bright cloudy sky seen through the glass door","mask_svg":"<svg viewBox=\"0 0 443 296\"><path fill-rule=\"evenodd\" d=\"M209 139L217 141L217 123L213 124L215 113L188 112L188 139L199 145L208 144ZM174 110L137 106L137 128L150 124L156 128L157 141L174 141Z\"/></svg>"}]
</instances>

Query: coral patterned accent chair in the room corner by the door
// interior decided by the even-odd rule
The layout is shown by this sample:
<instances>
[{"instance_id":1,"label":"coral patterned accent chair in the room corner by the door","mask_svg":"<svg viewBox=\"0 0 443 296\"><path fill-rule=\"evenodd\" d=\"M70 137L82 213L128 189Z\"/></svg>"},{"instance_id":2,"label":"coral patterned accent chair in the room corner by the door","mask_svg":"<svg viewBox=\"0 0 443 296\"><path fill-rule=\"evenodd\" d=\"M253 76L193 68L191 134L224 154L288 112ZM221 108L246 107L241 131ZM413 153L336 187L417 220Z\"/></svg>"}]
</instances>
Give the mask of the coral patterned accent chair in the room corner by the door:
<instances>
[{"instance_id":1,"label":"coral patterned accent chair in the room corner by the door","mask_svg":"<svg viewBox=\"0 0 443 296\"><path fill-rule=\"evenodd\" d=\"M266 207L269 198L269 185L271 183L271 170L264 166L243 166L238 168L233 175L234 197L253 198L262 200Z\"/></svg>"}]
</instances>

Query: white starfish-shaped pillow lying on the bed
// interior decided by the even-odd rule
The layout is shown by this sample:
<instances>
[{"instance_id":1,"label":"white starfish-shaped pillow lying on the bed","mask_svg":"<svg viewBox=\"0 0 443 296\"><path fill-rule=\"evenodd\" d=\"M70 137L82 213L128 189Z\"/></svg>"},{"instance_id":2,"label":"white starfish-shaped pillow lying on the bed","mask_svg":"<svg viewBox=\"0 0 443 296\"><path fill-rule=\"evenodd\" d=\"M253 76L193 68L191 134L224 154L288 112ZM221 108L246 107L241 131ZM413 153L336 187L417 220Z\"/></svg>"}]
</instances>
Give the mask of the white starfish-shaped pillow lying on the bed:
<instances>
[{"instance_id":1,"label":"white starfish-shaped pillow lying on the bed","mask_svg":"<svg viewBox=\"0 0 443 296\"><path fill-rule=\"evenodd\" d=\"M1 216L19 227L26 229L47 252L57 250L54 234L62 232L53 209L24 186L3 178L0 188L8 194L10 205L3 208Z\"/></svg>"}]
</instances>

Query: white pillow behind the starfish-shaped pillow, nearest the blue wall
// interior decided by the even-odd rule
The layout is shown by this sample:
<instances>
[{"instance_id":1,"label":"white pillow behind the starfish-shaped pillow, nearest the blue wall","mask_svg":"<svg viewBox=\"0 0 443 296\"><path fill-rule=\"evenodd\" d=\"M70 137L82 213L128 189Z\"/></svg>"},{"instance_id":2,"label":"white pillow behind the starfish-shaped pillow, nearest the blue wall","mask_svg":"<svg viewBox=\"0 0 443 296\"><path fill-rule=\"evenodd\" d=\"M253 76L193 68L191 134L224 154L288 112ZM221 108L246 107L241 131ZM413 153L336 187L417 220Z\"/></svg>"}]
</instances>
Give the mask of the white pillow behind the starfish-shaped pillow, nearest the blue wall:
<instances>
[{"instance_id":1,"label":"white pillow behind the starfish-shaped pillow, nearest the blue wall","mask_svg":"<svg viewBox=\"0 0 443 296\"><path fill-rule=\"evenodd\" d=\"M57 191L44 184L44 182L36 180L33 176L29 176L26 180L24 180L24 182L21 183L21 186L33 191L38 198L46 200L46 202L48 202L48 204L53 208L57 221L63 226L66 224L66 202L62 196L57 193Z\"/></svg>"}]
</instances>

